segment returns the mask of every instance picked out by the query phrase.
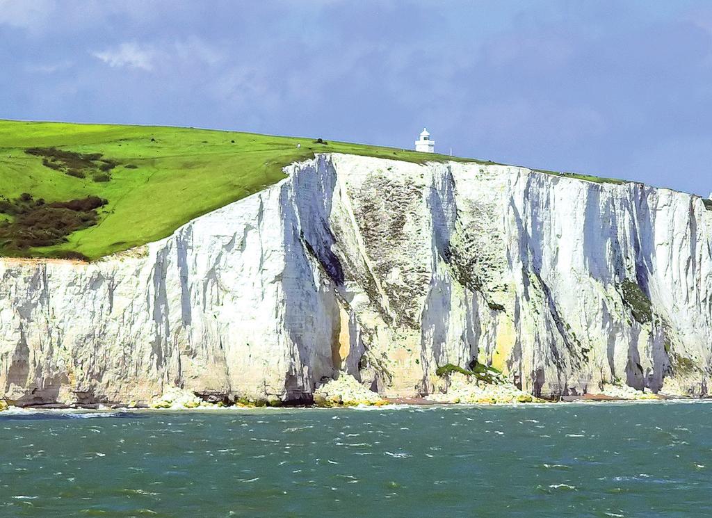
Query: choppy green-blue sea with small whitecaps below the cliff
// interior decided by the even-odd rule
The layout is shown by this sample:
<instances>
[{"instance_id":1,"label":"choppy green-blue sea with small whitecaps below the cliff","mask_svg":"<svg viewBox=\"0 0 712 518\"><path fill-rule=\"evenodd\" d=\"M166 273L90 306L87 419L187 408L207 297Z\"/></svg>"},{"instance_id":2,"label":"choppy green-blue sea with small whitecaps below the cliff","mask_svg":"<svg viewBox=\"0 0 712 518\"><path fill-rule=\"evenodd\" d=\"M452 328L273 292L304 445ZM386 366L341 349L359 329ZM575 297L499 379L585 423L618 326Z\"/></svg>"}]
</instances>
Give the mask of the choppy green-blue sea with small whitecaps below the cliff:
<instances>
[{"instance_id":1,"label":"choppy green-blue sea with small whitecaps below the cliff","mask_svg":"<svg viewBox=\"0 0 712 518\"><path fill-rule=\"evenodd\" d=\"M710 517L712 404L0 413L0 517Z\"/></svg>"}]
</instances>

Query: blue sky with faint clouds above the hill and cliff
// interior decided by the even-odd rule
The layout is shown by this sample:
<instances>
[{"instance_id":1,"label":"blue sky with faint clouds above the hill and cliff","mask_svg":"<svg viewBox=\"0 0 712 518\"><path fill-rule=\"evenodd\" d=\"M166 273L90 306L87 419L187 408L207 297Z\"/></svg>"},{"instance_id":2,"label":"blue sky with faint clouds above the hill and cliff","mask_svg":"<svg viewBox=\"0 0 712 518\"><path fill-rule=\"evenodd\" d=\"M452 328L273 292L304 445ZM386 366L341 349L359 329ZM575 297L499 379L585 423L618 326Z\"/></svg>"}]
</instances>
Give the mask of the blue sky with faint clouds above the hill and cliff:
<instances>
[{"instance_id":1,"label":"blue sky with faint clouds above the hill and cliff","mask_svg":"<svg viewBox=\"0 0 712 518\"><path fill-rule=\"evenodd\" d=\"M0 93L712 191L709 1L0 0Z\"/></svg>"}]
</instances>

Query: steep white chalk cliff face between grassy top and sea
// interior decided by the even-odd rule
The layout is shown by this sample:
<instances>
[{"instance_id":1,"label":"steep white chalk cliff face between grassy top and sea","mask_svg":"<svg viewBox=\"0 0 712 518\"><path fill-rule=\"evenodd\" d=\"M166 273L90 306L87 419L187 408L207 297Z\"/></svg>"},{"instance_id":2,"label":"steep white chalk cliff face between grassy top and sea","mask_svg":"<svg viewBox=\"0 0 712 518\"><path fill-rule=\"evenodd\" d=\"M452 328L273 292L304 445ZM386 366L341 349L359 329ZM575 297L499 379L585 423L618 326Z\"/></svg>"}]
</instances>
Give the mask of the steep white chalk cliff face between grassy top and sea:
<instances>
[{"instance_id":1,"label":"steep white chalk cliff face between grassy top and sea","mask_svg":"<svg viewBox=\"0 0 712 518\"><path fill-rule=\"evenodd\" d=\"M712 211L642 184L319 155L92 264L0 260L0 398L429 393L473 359L538 396L703 395Z\"/></svg>"}]
</instances>

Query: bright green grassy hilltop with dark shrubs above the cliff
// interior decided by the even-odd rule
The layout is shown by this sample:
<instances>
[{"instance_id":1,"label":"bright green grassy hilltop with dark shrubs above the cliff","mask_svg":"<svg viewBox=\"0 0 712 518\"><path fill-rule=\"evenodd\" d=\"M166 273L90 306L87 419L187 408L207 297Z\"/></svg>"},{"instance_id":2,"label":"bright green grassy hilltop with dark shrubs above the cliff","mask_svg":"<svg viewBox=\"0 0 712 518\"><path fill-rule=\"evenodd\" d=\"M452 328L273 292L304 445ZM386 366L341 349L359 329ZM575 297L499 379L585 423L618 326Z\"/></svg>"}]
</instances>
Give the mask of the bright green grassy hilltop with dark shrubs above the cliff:
<instances>
[{"instance_id":1,"label":"bright green grassy hilltop with dark shrubs above the cliff","mask_svg":"<svg viewBox=\"0 0 712 518\"><path fill-rule=\"evenodd\" d=\"M0 120L0 255L95 259L164 238L316 152L456 159L208 129Z\"/></svg>"}]
</instances>

